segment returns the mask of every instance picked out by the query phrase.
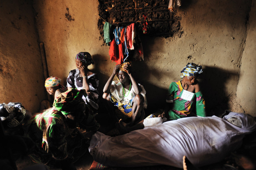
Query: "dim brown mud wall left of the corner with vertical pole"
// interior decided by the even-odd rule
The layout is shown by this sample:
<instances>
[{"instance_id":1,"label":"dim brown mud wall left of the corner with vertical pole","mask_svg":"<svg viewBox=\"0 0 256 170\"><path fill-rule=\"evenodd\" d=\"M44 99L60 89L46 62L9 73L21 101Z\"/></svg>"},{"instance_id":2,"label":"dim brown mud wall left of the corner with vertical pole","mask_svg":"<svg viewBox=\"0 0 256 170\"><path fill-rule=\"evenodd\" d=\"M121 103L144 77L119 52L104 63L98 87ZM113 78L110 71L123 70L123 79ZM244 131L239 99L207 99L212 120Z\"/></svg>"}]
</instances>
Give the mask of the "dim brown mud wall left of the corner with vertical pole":
<instances>
[{"instance_id":1,"label":"dim brown mud wall left of the corner with vertical pole","mask_svg":"<svg viewBox=\"0 0 256 170\"><path fill-rule=\"evenodd\" d=\"M0 103L21 102L37 112L46 97L30 0L0 2Z\"/></svg>"}]
</instances>

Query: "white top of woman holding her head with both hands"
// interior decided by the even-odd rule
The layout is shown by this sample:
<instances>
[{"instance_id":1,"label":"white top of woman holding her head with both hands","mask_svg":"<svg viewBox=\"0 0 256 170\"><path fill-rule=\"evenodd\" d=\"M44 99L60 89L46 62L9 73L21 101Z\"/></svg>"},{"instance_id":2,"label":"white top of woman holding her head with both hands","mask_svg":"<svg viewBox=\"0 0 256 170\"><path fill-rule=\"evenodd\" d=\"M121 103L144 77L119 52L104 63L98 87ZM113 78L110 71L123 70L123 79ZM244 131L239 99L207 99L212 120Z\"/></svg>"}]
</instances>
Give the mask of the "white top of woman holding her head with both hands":
<instances>
[{"instance_id":1,"label":"white top of woman holding her head with both hands","mask_svg":"<svg viewBox=\"0 0 256 170\"><path fill-rule=\"evenodd\" d=\"M147 102L147 98L146 98L146 90L144 89L144 87L141 84L139 84L139 86L142 89L140 94L144 98L143 108L146 109L148 106L148 102ZM124 89L124 91L123 91L123 86L122 86L121 82L119 82L119 81L113 81L111 83L110 93L111 93L111 95L113 95L113 97L115 97L115 99L117 99L118 102L123 103L123 104L125 104L125 103L128 104L129 101L136 95L133 86L130 89L130 92L129 92L129 90L126 90L126 89ZM127 97L124 97L124 95Z\"/></svg>"}]
</instances>

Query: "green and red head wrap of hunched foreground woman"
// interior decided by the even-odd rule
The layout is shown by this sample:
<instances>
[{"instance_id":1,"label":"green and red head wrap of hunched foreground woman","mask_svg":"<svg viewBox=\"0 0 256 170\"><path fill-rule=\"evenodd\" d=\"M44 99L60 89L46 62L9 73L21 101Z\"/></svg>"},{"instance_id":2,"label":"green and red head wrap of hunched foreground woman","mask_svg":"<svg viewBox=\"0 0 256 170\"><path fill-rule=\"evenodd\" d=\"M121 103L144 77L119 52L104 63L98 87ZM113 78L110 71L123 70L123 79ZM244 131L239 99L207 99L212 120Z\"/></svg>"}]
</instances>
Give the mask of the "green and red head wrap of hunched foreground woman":
<instances>
[{"instance_id":1,"label":"green and red head wrap of hunched foreground woman","mask_svg":"<svg viewBox=\"0 0 256 170\"><path fill-rule=\"evenodd\" d=\"M61 111L63 115L67 115L78 109L85 109L85 101L82 99L83 95L83 90L79 91L72 88L58 95L54 100L53 106L56 110Z\"/></svg>"}]
</instances>

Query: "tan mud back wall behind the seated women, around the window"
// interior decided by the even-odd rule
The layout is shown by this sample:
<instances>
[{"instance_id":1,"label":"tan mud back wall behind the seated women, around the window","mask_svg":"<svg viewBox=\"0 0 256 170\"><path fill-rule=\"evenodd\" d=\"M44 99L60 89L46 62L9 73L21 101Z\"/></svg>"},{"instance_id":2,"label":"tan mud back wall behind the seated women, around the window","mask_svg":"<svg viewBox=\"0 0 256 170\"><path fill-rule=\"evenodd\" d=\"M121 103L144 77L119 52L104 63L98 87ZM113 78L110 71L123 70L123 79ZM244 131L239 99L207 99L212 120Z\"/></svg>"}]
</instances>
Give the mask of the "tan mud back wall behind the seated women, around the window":
<instances>
[{"instance_id":1,"label":"tan mud back wall behind the seated women, around the window","mask_svg":"<svg viewBox=\"0 0 256 170\"><path fill-rule=\"evenodd\" d=\"M183 30L180 37L141 36L145 60L133 62L133 73L147 91L148 113L163 107L169 84L180 80L180 71L188 62L203 66L200 83L209 116L225 109L247 111L251 104L238 99L243 89L238 88L237 96L236 90L249 76L243 74L239 79L240 73L247 72L244 60L254 57L245 45L251 29L247 27L251 4L250 0L184 0L177 10ZM37 0L33 6L49 75L60 77L66 85L69 71L76 68L76 54L90 52L95 64L89 69L98 73L102 93L115 63L109 60L109 47L99 38L98 1ZM254 91L251 88L248 93Z\"/></svg>"}]
</instances>

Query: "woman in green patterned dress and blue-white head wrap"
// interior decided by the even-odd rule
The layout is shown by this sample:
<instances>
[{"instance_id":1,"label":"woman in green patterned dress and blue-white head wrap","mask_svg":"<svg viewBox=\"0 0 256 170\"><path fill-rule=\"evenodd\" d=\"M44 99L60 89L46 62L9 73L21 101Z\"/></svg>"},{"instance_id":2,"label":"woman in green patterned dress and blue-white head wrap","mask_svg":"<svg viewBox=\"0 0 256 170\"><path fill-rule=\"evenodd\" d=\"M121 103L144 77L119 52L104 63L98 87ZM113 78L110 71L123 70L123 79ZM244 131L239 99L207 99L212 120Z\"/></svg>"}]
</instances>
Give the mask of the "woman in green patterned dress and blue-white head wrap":
<instances>
[{"instance_id":1,"label":"woman in green patterned dress and blue-white head wrap","mask_svg":"<svg viewBox=\"0 0 256 170\"><path fill-rule=\"evenodd\" d=\"M166 98L166 107L160 116L167 120L176 120L196 114L206 116L205 104L197 77L203 72L202 66L189 62L182 71L181 81L172 82Z\"/></svg>"}]
</instances>

